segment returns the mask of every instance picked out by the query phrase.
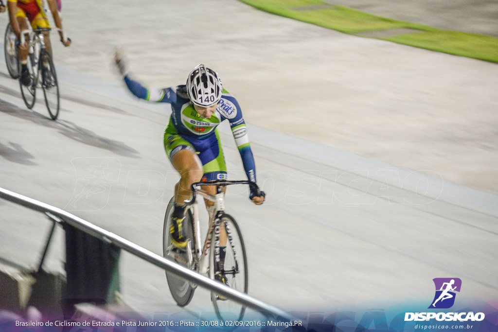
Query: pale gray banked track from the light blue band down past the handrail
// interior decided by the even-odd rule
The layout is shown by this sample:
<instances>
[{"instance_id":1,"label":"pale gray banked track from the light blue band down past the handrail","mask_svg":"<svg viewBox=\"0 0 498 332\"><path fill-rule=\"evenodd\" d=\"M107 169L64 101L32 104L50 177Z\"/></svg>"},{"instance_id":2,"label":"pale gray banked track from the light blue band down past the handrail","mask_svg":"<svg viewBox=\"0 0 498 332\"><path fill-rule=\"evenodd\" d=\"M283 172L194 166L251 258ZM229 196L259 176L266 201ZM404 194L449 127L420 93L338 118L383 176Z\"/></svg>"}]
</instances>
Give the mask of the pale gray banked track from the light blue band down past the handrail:
<instances>
[{"instance_id":1,"label":"pale gray banked track from the light blue band down past the handrail","mask_svg":"<svg viewBox=\"0 0 498 332\"><path fill-rule=\"evenodd\" d=\"M2 80L2 85L15 87L15 82ZM95 88L102 87L95 82ZM26 111L15 106L19 96L1 94L8 101L0 113L2 140L12 145L8 142L15 138L17 150L30 155L30 162L22 156L2 160L2 186L160 253L162 216L177 176L163 159L161 144L152 142L167 115L69 83L64 90L65 119L58 122L45 118L43 105ZM15 133L20 127L24 130ZM242 166L227 129L222 140L230 176L239 178ZM465 281L461 303L496 294L497 271L488 264L497 253L496 196L249 129L268 200L255 207L244 190L232 190L227 205L245 234L252 296L284 310L344 309L367 302L381 307L430 297L435 275ZM57 149L48 148L53 144ZM296 145L307 152L296 154ZM103 161L108 167L99 169ZM102 187L103 192L91 194ZM77 199L80 193L88 196ZM1 203L1 210L2 229L8 229L1 234L3 257L36 264L48 221L9 203ZM48 262L52 269L61 269L64 257L60 234L57 238ZM148 315L180 311L161 270L124 254L122 272L126 303ZM198 290L185 314L210 310L209 295Z\"/></svg>"}]
</instances>

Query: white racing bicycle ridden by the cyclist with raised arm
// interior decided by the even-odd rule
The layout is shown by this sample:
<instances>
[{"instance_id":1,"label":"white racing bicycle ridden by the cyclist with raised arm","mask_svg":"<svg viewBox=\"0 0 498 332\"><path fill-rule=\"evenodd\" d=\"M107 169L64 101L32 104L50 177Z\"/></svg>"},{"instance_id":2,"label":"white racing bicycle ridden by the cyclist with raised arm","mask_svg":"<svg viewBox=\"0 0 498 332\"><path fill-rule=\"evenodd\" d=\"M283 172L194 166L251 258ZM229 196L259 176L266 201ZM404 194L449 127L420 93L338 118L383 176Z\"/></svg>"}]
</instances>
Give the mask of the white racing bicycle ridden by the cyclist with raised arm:
<instances>
[{"instance_id":1,"label":"white racing bicycle ridden by the cyclist with raised arm","mask_svg":"<svg viewBox=\"0 0 498 332\"><path fill-rule=\"evenodd\" d=\"M170 227L171 215L174 208L174 198L168 203L166 216L164 217L163 229L163 253L164 257L174 260L191 270L201 274L207 274L215 280L215 275L221 273L226 277L226 285L242 293L248 292L248 260L246 248L239 225L235 219L225 213L225 196L223 188L229 185L249 185L251 191L259 192L257 185L250 181L227 181L214 180L207 182L196 182L192 184L192 199L185 201L185 219L182 222L183 234L187 238L185 249L176 248L171 243ZM201 189L201 186L216 186L216 195L212 195ZM201 246L198 195L214 203L208 210L209 225L204 244ZM217 264L220 252L220 232L226 232L227 250L225 264L220 267ZM197 285L166 271L169 290L176 303L186 306L192 300ZM246 307L227 300L216 292L211 292L211 301L215 312L220 320L240 320L244 316Z\"/></svg>"}]
</instances>

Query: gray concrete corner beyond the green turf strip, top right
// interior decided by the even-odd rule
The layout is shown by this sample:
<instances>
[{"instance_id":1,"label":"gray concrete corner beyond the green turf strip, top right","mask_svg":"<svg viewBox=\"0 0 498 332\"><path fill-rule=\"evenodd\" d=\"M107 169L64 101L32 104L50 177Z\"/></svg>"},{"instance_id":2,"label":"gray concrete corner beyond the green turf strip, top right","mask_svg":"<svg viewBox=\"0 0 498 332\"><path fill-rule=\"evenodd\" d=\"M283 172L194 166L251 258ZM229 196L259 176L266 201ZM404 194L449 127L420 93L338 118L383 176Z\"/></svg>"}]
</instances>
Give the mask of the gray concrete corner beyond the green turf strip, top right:
<instances>
[{"instance_id":1,"label":"gray concrete corner beyond the green turf strip, top right","mask_svg":"<svg viewBox=\"0 0 498 332\"><path fill-rule=\"evenodd\" d=\"M498 37L496 0L324 0L374 15Z\"/></svg>"}]
</instances>

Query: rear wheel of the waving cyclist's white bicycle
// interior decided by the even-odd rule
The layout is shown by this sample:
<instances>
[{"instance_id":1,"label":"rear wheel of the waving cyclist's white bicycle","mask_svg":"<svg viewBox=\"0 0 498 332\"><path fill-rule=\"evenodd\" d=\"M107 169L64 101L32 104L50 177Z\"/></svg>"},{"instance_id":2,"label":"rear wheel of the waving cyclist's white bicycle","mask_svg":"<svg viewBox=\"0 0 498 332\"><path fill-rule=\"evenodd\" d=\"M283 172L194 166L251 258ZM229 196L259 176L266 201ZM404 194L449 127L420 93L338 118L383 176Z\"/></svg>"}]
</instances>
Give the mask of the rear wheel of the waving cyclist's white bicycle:
<instances>
[{"instance_id":1,"label":"rear wheel of the waving cyclist's white bicycle","mask_svg":"<svg viewBox=\"0 0 498 332\"><path fill-rule=\"evenodd\" d=\"M188 268L193 268L189 266L189 255L186 250L194 251L194 223L193 217L190 210L185 211L185 219L183 220L183 234L187 237L189 244L185 251L178 250L172 246L171 237L169 235L169 229L171 227L171 214L173 213L173 208L175 206L174 199L172 198L168 203L168 208L166 209L166 215L164 216L164 229L163 229L163 255L165 258L175 261L176 263L183 265ZM177 276L174 273L166 271L166 279L168 281L169 290L175 302L180 306L184 307L190 303L192 297L194 296L194 288L190 282L182 277Z\"/></svg>"}]
</instances>

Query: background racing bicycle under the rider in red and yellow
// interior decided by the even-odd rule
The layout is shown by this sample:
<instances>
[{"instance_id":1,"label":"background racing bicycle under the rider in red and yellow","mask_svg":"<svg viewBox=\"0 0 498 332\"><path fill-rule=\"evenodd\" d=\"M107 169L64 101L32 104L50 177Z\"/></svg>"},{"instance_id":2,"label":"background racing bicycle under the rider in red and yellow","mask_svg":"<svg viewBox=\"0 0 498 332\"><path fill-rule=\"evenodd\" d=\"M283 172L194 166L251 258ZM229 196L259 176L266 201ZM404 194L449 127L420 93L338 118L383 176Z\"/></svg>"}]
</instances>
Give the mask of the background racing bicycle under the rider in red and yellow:
<instances>
[{"instance_id":1,"label":"background racing bicycle under the rider in red and yellow","mask_svg":"<svg viewBox=\"0 0 498 332\"><path fill-rule=\"evenodd\" d=\"M21 43L25 42L25 36L29 38L29 56L27 67L31 84L24 86L19 80L21 95L24 104L28 109L32 109L36 101L36 87L38 84L43 89L45 105L52 120L57 119L59 115L59 85L57 83L57 74L55 73L52 55L45 48L43 38L44 31L50 31L50 28L40 28L33 30L21 31ZM18 62L17 72L20 73L20 64Z\"/></svg>"}]
</instances>

